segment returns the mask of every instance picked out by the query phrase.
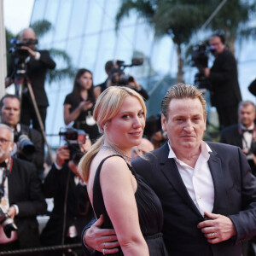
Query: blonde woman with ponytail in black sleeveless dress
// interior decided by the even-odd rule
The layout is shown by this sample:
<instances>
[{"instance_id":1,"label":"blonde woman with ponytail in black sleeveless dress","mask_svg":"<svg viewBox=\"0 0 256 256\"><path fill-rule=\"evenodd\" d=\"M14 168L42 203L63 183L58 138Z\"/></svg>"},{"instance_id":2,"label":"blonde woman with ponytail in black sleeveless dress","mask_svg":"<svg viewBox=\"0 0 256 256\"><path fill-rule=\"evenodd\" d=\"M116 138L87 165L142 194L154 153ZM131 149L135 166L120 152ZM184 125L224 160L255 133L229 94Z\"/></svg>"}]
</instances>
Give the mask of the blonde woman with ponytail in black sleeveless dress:
<instances>
[{"instance_id":1,"label":"blonde woman with ponytail in black sleeveless dress","mask_svg":"<svg viewBox=\"0 0 256 256\"><path fill-rule=\"evenodd\" d=\"M102 214L102 228L115 230L119 251L112 255L167 255L160 201L131 167L131 148L141 143L145 117L145 103L136 91L104 90L94 109L103 135L79 163L96 218ZM96 255L105 253L103 244Z\"/></svg>"}]
</instances>

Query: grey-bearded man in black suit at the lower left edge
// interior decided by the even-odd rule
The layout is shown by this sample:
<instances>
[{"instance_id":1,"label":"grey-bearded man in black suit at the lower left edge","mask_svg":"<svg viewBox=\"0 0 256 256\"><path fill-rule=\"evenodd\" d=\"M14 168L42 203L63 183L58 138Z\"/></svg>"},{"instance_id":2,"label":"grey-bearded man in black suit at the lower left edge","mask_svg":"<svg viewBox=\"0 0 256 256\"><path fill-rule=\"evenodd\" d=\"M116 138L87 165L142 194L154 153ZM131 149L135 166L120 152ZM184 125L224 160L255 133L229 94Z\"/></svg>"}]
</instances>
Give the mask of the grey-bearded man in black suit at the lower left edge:
<instances>
[{"instance_id":1,"label":"grey-bearded man in black suit at the lower left edge","mask_svg":"<svg viewBox=\"0 0 256 256\"><path fill-rule=\"evenodd\" d=\"M25 160L12 158L14 133L8 125L0 124L0 182L3 212L12 218L18 230L8 237L0 224L0 251L38 247L37 215L47 209L36 167Z\"/></svg>"}]
</instances>

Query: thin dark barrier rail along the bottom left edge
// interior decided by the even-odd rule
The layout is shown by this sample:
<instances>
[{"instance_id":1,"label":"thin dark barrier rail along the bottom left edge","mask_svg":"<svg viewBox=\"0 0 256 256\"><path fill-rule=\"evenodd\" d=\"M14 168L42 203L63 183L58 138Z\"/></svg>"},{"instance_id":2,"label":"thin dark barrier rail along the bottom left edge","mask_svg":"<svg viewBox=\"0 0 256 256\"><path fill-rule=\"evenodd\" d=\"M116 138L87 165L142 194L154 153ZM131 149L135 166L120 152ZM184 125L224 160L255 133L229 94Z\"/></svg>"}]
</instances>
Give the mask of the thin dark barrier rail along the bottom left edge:
<instances>
[{"instance_id":1,"label":"thin dark barrier rail along the bottom left edge","mask_svg":"<svg viewBox=\"0 0 256 256\"><path fill-rule=\"evenodd\" d=\"M52 246L52 247L36 247L36 248L27 248L27 249L20 249L14 251L5 251L0 252L0 255L22 255L22 254L29 254L29 253L43 253L48 251L68 251L69 249L81 248L81 243L73 243L67 245L60 245L60 246Z\"/></svg>"}]
</instances>

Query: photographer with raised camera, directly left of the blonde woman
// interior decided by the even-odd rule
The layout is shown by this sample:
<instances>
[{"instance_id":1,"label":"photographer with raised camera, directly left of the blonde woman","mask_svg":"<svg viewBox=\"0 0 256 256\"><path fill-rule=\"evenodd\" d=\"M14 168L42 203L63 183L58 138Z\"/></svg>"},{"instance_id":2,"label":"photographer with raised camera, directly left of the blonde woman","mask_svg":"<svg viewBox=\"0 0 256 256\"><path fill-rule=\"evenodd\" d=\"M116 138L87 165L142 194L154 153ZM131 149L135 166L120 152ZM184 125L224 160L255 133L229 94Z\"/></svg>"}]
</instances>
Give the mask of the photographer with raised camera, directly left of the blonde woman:
<instances>
[{"instance_id":1,"label":"photographer with raised camera, directly left of the blonde woman","mask_svg":"<svg viewBox=\"0 0 256 256\"><path fill-rule=\"evenodd\" d=\"M77 139L77 142L79 139ZM80 158L90 148L86 138L78 151L70 150L70 144L57 149L56 160L44 180L44 195L54 198L54 209L50 213L41 241L44 246L63 245L80 242L85 224L93 216L85 183L77 171ZM83 255L78 250L76 255ZM47 255L62 255L47 253ZM73 255L73 254L72 254Z\"/></svg>"}]
</instances>

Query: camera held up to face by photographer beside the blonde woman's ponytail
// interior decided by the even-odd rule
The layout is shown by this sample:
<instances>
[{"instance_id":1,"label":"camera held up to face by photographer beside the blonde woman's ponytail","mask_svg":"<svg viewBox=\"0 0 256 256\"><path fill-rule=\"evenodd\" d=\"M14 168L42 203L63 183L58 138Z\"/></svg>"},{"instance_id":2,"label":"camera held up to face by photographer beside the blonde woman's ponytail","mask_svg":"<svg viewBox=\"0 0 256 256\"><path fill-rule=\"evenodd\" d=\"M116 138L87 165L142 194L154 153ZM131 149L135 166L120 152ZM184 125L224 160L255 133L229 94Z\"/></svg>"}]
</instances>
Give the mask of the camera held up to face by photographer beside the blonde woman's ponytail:
<instances>
[{"instance_id":1,"label":"camera held up to face by photographer beside the blonde woman's ponytail","mask_svg":"<svg viewBox=\"0 0 256 256\"><path fill-rule=\"evenodd\" d=\"M73 159L75 154L81 152L80 145L86 141L86 133L83 130L74 128L61 128L59 136L63 137L67 143L67 148L70 151L70 159Z\"/></svg>"}]
</instances>

